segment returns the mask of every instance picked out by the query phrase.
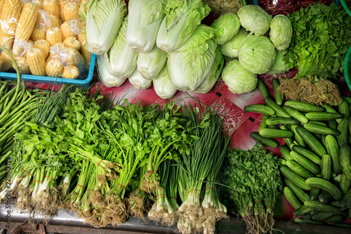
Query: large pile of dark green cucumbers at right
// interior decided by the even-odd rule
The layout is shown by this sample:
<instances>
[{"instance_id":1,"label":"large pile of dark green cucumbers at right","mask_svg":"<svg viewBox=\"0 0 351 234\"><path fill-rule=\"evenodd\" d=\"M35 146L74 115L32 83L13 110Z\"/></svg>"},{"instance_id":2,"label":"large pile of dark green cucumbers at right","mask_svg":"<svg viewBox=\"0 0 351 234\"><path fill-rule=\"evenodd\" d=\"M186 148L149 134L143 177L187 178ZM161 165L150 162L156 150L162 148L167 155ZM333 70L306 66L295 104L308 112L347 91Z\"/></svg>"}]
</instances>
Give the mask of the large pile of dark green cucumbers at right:
<instances>
[{"instance_id":1,"label":"large pile of dark green cucumbers at right","mask_svg":"<svg viewBox=\"0 0 351 234\"><path fill-rule=\"evenodd\" d=\"M294 221L350 226L343 221L351 216L351 98L336 106L295 100L283 104L274 86L271 98L265 84L258 82L265 105L246 105L244 111L263 114L253 139L277 148L274 138L284 138L280 171L284 195L295 209Z\"/></svg>"}]
</instances>

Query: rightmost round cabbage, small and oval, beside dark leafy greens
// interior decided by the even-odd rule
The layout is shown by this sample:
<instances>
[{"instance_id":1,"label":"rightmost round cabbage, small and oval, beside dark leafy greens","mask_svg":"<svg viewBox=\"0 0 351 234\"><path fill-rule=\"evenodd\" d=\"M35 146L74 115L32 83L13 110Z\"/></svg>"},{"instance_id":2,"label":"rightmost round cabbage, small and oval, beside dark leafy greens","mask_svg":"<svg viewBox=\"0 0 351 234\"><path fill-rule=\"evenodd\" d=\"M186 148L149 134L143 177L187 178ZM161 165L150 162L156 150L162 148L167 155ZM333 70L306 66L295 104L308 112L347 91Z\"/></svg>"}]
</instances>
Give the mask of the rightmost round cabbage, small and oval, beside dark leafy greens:
<instances>
[{"instance_id":1,"label":"rightmost round cabbage, small and oval, beside dark leafy greens","mask_svg":"<svg viewBox=\"0 0 351 234\"><path fill-rule=\"evenodd\" d=\"M275 15L270 23L270 40L275 48L278 51L289 48L292 36L293 27L289 18L286 15Z\"/></svg>"}]
</instances>

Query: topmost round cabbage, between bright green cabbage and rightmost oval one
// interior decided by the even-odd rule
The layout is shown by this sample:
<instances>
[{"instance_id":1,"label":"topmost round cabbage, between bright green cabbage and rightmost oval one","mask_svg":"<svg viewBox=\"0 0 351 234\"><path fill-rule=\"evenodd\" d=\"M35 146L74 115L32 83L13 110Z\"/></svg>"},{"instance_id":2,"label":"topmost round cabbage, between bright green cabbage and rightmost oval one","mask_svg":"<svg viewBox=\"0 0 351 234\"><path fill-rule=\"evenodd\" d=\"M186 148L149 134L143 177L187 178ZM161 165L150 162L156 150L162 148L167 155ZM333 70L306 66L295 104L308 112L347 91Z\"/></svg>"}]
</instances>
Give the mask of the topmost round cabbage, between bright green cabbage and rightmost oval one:
<instances>
[{"instance_id":1,"label":"topmost round cabbage, between bright green cabbage and rightmost oval one","mask_svg":"<svg viewBox=\"0 0 351 234\"><path fill-rule=\"evenodd\" d=\"M265 34L270 29L272 15L260 6L247 5L237 12L241 26L257 36Z\"/></svg>"}]
</instances>

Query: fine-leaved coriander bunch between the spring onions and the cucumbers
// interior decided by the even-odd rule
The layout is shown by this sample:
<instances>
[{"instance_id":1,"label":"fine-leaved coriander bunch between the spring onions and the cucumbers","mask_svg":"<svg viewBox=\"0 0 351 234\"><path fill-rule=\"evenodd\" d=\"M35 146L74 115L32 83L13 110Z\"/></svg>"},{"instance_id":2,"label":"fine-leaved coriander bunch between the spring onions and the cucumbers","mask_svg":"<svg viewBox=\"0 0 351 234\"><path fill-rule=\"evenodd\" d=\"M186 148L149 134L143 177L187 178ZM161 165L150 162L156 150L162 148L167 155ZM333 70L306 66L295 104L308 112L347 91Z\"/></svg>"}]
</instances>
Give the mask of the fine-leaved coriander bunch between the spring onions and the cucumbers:
<instances>
[{"instance_id":1,"label":"fine-leaved coriander bunch between the spring onions and the cucumbers","mask_svg":"<svg viewBox=\"0 0 351 234\"><path fill-rule=\"evenodd\" d=\"M235 212L242 216L248 233L272 233L273 208L277 202L280 160L257 143L251 150L230 150L225 184Z\"/></svg>"}]
</instances>

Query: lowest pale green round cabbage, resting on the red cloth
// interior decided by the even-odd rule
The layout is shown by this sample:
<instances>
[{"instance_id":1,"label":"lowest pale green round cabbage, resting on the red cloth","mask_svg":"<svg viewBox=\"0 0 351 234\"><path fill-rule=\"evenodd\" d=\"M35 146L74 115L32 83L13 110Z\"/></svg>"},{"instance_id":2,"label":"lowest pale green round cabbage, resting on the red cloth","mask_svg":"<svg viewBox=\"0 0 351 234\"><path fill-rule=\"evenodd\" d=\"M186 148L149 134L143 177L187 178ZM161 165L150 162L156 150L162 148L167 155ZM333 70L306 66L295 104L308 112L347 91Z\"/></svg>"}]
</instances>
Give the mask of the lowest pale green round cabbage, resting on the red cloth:
<instances>
[{"instance_id":1,"label":"lowest pale green round cabbage, resting on the red cloth","mask_svg":"<svg viewBox=\"0 0 351 234\"><path fill-rule=\"evenodd\" d=\"M249 93L257 86L257 74L245 70L238 60L227 63L222 72L222 79L232 93Z\"/></svg>"}]
</instances>

